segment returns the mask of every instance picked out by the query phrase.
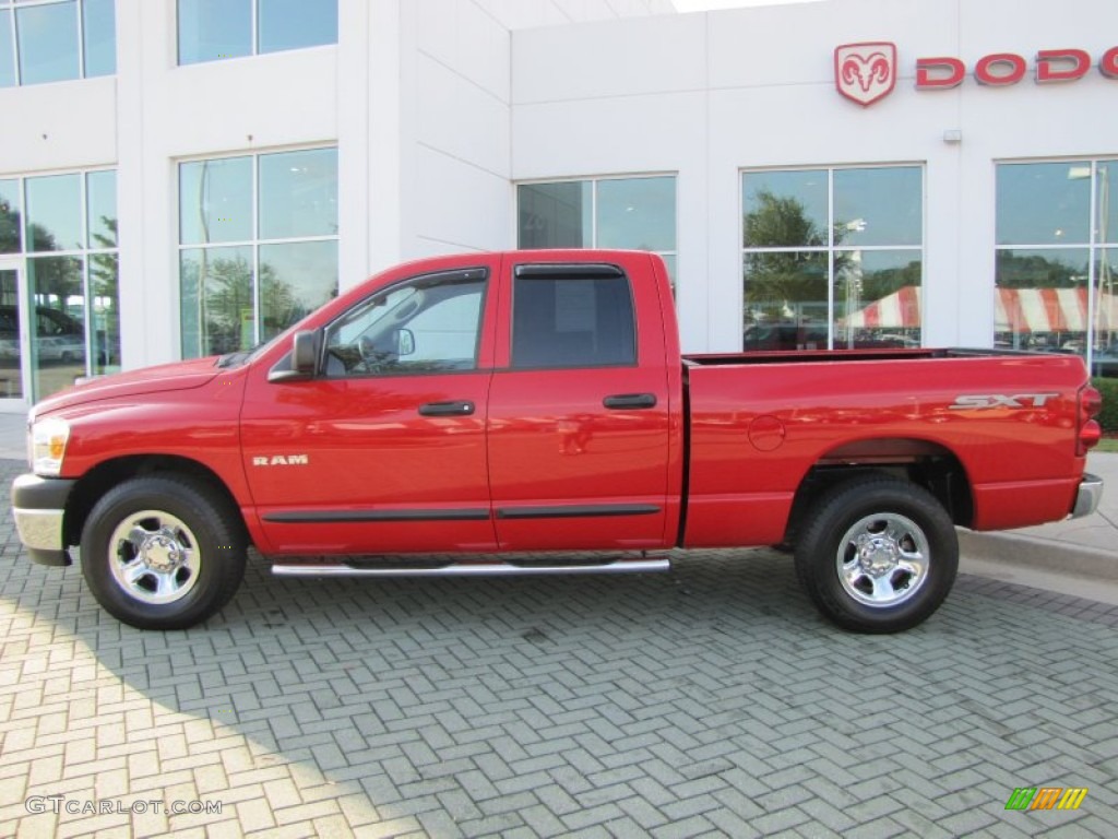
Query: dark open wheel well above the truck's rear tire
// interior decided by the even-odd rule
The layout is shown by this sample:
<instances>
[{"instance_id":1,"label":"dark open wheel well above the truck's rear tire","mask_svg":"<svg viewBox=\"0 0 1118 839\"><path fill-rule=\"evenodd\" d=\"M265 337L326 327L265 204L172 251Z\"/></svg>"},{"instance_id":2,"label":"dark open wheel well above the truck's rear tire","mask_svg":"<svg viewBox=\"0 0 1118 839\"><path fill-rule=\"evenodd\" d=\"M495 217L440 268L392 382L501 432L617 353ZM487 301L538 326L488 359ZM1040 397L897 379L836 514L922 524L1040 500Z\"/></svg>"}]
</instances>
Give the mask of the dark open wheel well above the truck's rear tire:
<instances>
[{"instance_id":1,"label":"dark open wheel well above the truck's rear tire","mask_svg":"<svg viewBox=\"0 0 1118 839\"><path fill-rule=\"evenodd\" d=\"M874 473L922 487L958 526L969 527L974 520L970 481L950 450L922 440L872 440L834 449L808 470L796 489L785 541L795 544L804 516L822 493L851 478Z\"/></svg>"}]
</instances>

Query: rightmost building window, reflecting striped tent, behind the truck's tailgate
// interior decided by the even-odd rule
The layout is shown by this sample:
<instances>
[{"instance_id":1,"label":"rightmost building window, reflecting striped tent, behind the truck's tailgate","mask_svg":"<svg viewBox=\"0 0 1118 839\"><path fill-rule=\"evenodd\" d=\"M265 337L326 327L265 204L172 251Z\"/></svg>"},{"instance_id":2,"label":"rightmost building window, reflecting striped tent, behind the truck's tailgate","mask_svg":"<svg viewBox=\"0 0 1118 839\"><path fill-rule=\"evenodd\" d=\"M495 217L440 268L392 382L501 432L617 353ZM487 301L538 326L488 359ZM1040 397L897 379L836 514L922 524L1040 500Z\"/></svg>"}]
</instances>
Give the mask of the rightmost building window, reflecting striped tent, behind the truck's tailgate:
<instances>
[{"instance_id":1,"label":"rightmost building window, reflecting striped tent, behind the truck's tailgate","mask_svg":"<svg viewBox=\"0 0 1118 839\"><path fill-rule=\"evenodd\" d=\"M997 167L994 340L1118 376L1118 160Z\"/></svg>"}]
</instances>

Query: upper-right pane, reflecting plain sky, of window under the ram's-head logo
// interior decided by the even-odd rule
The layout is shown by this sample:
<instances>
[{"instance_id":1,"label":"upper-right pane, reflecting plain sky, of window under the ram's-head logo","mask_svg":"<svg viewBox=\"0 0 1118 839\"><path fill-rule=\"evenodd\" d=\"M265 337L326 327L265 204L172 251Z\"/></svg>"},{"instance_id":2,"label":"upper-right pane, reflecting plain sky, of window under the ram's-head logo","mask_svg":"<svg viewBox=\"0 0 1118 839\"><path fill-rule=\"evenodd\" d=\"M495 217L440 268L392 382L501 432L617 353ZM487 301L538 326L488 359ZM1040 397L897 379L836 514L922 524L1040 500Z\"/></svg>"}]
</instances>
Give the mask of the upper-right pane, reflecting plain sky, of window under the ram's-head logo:
<instances>
[{"instance_id":1,"label":"upper-right pane, reflecting plain sky, of window under the ram's-head logo","mask_svg":"<svg viewBox=\"0 0 1118 839\"><path fill-rule=\"evenodd\" d=\"M919 245L921 181L919 167L835 170L834 244Z\"/></svg>"}]
</instances>

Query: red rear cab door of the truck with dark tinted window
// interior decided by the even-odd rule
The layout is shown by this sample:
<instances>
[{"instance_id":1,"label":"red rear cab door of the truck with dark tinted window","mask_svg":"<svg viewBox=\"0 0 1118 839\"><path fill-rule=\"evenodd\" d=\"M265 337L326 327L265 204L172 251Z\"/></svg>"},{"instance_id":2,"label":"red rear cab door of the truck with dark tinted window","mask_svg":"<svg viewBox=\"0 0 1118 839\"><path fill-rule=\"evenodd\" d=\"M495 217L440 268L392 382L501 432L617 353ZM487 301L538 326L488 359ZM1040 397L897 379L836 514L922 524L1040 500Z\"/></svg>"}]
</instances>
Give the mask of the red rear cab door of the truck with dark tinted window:
<instances>
[{"instance_id":1,"label":"red rear cab door of the truck with dark tinted window","mask_svg":"<svg viewBox=\"0 0 1118 839\"><path fill-rule=\"evenodd\" d=\"M639 304L662 327L656 287L613 264L517 256L502 268L489 407L500 547L662 547L674 538L665 351L636 318Z\"/></svg>"}]
</instances>

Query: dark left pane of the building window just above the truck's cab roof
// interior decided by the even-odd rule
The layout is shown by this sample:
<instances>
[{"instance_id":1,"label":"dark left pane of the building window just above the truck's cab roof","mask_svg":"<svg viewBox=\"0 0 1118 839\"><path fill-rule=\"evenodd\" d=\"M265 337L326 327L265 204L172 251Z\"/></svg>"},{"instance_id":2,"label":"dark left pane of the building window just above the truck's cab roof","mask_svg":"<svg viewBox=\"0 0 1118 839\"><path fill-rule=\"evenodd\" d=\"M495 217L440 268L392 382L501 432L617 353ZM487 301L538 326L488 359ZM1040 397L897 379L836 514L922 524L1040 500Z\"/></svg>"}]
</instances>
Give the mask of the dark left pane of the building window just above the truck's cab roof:
<instances>
[{"instance_id":1,"label":"dark left pane of the building window just above the truck's cab roof","mask_svg":"<svg viewBox=\"0 0 1118 839\"><path fill-rule=\"evenodd\" d=\"M519 187L518 247L590 247L594 244L591 187L590 181Z\"/></svg>"}]
</instances>

